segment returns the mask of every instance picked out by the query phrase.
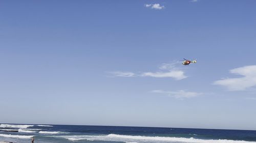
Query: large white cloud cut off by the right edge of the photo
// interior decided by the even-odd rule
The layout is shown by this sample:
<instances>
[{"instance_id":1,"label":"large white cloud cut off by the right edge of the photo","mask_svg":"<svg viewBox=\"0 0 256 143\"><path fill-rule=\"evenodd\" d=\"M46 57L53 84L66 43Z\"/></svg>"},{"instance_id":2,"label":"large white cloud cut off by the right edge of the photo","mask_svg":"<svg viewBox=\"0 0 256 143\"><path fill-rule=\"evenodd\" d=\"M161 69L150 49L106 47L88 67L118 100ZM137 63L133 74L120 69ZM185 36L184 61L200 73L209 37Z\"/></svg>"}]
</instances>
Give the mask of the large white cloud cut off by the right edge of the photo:
<instances>
[{"instance_id":1,"label":"large white cloud cut off by the right edge of the photo","mask_svg":"<svg viewBox=\"0 0 256 143\"><path fill-rule=\"evenodd\" d=\"M230 91L244 91L256 85L256 65L232 69L230 73L243 77L225 78L215 81L214 84L222 85Z\"/></svg>"}]
</instances>

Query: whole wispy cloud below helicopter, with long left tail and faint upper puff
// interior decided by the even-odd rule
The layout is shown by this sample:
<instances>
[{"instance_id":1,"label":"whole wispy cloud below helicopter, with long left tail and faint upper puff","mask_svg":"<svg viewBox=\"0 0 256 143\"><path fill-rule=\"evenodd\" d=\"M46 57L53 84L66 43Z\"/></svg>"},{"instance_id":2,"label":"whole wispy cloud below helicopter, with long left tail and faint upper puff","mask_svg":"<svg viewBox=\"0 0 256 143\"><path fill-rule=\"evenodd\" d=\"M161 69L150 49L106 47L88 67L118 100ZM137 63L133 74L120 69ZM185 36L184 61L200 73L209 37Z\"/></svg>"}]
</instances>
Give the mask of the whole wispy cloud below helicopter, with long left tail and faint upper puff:
<instances>
[{"instance_id":1,"label":"whole wispy cloud below helicopter, with long left tail and faint upper puff","mask_svg":"<svg viewBox=\"0 0 256 143\"><path fill-rule=\"evenodd\" d=\"M134 73L134 72L121 72L121 71L114 71L114 72L108 72L109 74L112 74L113 76L122 76L122 77L134 77L134 76L140 76L140 77L157 77L157 78L163 78L163 77L170 77L174 78L176 80L181 80L186 78L185 72L177 68L177 62L171 63L171 64L162 64L159 67L159 71L157 72L142 72L142 73ZM180 63L179 63L180 64Z\"/></svg>"}]
</instances>

